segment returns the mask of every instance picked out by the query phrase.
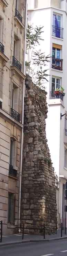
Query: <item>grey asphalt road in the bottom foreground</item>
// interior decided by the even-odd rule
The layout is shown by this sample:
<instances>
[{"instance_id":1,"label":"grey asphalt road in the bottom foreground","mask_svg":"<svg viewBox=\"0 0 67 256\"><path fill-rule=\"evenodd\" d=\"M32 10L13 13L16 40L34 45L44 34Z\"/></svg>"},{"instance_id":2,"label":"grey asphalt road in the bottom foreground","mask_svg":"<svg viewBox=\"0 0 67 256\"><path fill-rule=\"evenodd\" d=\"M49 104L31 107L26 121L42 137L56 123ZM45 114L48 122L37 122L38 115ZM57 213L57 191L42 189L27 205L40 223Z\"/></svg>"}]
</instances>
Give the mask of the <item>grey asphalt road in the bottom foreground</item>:
<instances>
[{"instance_id":1,"label":"grey asphalt road in the bottom foreground","mask_svg":"<svg viewBox=\"0 0 67 256\"><path fill-rule=\"evenodd\" d=\"M0 247L0 256L67 256L67 239Z\"/></svg>"}]
</instances>

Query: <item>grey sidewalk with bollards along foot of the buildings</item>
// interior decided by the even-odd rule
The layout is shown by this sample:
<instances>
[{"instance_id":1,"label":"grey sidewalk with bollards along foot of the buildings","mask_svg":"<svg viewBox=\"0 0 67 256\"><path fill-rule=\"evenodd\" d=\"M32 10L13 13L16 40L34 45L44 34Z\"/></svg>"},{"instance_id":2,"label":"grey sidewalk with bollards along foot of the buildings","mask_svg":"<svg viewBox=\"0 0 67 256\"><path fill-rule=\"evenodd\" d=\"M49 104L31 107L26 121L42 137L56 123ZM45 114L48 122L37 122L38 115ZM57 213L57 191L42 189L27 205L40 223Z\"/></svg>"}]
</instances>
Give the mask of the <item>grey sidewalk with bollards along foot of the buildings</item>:
<instances>
[{"instance_id":1,"label":"grey sidewalk with bollards along foot of the buildings","mask_svg":"<svg viewBox=\"0 0 67 256\"><path fill-rule=\"evenodd\" d=\"M36 242L36 241L53 241L53 240L59 240L59 239L67 239L67 230L66 230L66 235L64 234L63 230L63 236L61 238L61 230L57 231L57 234L52 234L52 235L26 235L24 234L23 240L22 240L22 235L21 234L15 234L15 235L6 235L2 236L2 243L0 243L0 246L4 245L10 245L10 244L20 244L20 243L29 243L29 242Z\"/></svg>"}]
</instances>

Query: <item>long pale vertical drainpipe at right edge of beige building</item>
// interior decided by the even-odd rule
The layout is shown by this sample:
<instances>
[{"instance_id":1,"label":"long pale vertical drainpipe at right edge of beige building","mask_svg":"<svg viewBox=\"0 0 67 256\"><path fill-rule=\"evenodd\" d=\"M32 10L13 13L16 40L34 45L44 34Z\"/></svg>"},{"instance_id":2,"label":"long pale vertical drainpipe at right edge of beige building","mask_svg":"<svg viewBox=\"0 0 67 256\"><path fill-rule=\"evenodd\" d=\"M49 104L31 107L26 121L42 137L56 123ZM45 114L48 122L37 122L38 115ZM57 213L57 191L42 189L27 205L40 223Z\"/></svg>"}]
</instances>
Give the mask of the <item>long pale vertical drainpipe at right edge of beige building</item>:
<instances>
[{"instance_id":1,"label":"long pale vertical drainpipe at right edge of beige building","mask_svg":"<svg viewBox=\"0 0 67 256\"><path fill-rule=\"evenodd\" d=\"M25 11L25 38L24 38L24 59L23 59L23 74L25 75L25 56L26 56L26 32L27 32L27 0ZM24 117L24 95L25 95L25 80L23 80L23 93L22 93L22 124ZM20 227L20 203L21 203L21 178L22 178L22 149L23 149L23 129L21 131L21 153L20 153L20 181L19 181L19 212L18 212L18 226ZM19 230L20 232L20 230Z\"/></svg>"}]
</instances>

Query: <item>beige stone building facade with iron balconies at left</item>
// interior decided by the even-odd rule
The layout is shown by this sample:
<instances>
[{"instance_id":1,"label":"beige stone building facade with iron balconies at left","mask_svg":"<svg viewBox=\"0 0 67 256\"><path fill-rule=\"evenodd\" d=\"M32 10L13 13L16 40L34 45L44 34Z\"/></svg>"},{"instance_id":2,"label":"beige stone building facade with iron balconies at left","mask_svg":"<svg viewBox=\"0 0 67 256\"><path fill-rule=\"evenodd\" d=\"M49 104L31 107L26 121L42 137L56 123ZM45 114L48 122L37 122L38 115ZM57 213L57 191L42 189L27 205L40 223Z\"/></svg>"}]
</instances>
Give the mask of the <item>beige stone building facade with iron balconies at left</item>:
<instances>
[{"instance_id":1,"label":"beige stone building facade with iron balconies at left","mask_svg":"<svg viewBox=\"0 0 67 256\"><path fill-rule=\"evenodd\" d=\"M0 0L0 221L3 221L3 234L15 232L20 216L26 2Z\"/></svg>"}]
</instances>

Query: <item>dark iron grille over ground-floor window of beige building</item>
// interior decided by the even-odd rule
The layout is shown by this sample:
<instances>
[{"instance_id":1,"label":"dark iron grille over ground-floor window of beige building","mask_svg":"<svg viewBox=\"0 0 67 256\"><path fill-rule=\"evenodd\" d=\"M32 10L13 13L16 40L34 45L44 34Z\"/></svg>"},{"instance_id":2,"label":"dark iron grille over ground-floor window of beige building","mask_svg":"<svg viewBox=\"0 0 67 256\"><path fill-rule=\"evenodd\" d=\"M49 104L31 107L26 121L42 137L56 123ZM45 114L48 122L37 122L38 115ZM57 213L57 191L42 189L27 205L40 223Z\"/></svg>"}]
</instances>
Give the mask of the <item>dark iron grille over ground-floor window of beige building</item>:
<instances>
[{"instance_id":1,"label":"dark iron grille over ground-floor window of beige building","mask_svg":"<svg viewBox=\"0 0 67 256\"><path fill-rule=\"evenodd\" d=\"M15 195L8 193L8 222L15 225Z\"/></svg>"}]
</instances>

